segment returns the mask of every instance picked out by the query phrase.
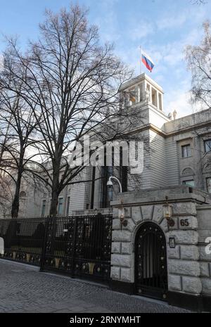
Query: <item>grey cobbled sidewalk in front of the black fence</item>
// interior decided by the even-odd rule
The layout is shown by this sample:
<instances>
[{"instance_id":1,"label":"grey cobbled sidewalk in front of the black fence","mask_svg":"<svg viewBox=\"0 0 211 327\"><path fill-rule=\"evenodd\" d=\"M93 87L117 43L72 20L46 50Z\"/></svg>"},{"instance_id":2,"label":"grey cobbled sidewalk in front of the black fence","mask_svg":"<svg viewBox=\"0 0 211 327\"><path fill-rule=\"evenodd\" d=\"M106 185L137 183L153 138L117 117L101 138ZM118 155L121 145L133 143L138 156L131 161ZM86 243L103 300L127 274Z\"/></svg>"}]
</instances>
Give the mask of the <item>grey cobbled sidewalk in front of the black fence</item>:
<instances>
[{"instance_id":1,"label":"grey cobbled sidewalk in front of the black fence","mask_svg":"<svg viewBox=\"0 0 211 327\"><path fill-rule=\"evenodd\" d=\"M188 312L4 259L0 259L0 290L0 312Z\"/></svg>"}]
</instances>

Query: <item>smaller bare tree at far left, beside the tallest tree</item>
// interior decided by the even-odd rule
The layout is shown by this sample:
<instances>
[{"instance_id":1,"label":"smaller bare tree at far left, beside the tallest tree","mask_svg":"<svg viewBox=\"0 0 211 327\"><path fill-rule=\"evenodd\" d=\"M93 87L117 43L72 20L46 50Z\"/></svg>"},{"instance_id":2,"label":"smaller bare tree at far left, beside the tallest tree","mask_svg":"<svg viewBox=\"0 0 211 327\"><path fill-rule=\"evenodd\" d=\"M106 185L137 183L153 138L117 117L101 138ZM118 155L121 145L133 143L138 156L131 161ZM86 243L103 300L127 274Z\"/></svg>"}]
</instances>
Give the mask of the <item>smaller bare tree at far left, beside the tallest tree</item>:
<instances>
[{"instance_id":1,"label":"smaller bare tree at far left, beside the tallest tree","mask_svg":"<svg viewBox=\"0 0 211 327\"><path fill-rule=\"evenodd\" d=\"M20 71L20 66L16 67L17 69L24 78L25 72ZM32 108L20 96L21 89L22 84L18 84L18 81L4 70L1 74L0 89L0 171L11 180L12 218L18 217L21 181L28 163L34 158L30 147L35 142L37 125Z\"/></svg>"}]
</instances>

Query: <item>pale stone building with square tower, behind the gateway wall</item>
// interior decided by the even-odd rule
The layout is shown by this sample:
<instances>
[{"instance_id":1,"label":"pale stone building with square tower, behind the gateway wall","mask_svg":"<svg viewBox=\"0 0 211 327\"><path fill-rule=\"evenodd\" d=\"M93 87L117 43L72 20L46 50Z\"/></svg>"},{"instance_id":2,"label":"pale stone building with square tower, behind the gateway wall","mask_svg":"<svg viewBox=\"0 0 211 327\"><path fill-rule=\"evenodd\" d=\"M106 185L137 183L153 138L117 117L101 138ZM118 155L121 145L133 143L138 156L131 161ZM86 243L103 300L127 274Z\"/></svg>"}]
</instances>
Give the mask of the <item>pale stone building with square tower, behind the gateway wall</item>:
<instances>
[{"instance_id":1,"label":"pale stone building with square tower, behind the gateway wall","mask_svg":"<svg viewBox=\"0 0 211 327\"><path fill-rule=\"evenodd\" d=\"M139 176L128 174L127 191L190 184L210 193L211 165L207 163L211 162L211 152L205 153L205 141L211 139L210 110L171 120L174 115L167 116L163 111L162 88L146 74L123 84L120 91L123 105L137 113L133 132L148 139L143 172ZM99 179L102 167L96 167L93 182L90 181L92 173L92 167L87 167L77 179L89 182L67 186L60 193L58 214L75 214L78 210L109 206L108 201L102 203L103 186ZM47 216L51 201L49 192L35 194L30 188L26 193L25 210L21 215ZM117 193L115 186L113 198Z\"/></svg>"}]
</instances>

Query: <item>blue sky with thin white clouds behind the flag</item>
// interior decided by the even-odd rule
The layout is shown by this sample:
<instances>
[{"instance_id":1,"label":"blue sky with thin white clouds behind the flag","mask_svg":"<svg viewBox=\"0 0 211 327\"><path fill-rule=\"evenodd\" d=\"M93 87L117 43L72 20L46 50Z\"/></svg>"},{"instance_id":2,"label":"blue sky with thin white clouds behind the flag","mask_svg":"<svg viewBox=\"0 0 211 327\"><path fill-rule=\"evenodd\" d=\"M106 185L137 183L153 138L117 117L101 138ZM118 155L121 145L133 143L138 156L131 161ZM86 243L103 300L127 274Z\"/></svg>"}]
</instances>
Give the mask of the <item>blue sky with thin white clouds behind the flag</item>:
<instances>
[{"instance_id":1,"label":"blue sky with thin white clouds behind the flag","mask_svg":"<svg viewBox=\"0 0 211 327\"><path fill-rule=\"evenodd\" d=\"M69 0L1 0L1 34L17 34L25 46L36 39L44 9L58 11ZM155 63L150 73L165 91L165 112L177 110L179 116L196 110L188 103L191 75L186 70L184 46L198 44L202 24L211 18L211 0L193 5L191 0L79 0L89 7L89 21L98 25L102 41L115 44L115 52L139 75L139 46ZM0 38L0 53L4 49Z\"/></svg>"}]
</instances>

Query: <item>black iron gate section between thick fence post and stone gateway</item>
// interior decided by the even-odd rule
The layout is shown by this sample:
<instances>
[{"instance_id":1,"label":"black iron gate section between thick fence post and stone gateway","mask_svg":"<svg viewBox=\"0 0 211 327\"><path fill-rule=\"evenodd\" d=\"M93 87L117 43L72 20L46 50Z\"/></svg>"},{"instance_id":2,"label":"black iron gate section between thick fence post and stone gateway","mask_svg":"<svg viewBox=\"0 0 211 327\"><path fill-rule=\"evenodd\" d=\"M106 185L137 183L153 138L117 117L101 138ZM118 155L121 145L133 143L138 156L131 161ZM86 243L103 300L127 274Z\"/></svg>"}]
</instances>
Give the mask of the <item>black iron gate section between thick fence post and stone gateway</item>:
<instances>
[{"instance_id":1,"label":"black iron gate section between thick fence post and stone gateway","mask_svg":"<svg viewBox=\"0 0 211 327\"><path fill-rule=\"evenodd\" d=\"M108 281L111 232L110 215L48 219L41 270Z\"/></svg>"}]
</instances>

